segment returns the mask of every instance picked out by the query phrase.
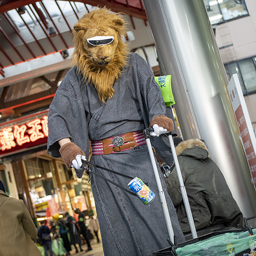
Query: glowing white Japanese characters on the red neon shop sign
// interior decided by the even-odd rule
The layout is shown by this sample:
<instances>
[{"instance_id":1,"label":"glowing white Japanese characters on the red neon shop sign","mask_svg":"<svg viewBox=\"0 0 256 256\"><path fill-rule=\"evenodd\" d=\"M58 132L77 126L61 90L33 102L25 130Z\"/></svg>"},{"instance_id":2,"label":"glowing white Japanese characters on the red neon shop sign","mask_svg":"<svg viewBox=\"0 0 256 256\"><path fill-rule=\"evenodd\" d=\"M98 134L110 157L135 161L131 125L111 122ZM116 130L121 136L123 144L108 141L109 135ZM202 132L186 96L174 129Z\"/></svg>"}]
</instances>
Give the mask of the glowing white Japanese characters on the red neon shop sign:
<instances>
[{"instance_id":1,"label":"glowing white Japanese characters on the red neon shop sign","mask_svg":"<svg viewBox=\"0 0 256 256\"><path fill-rule=\"evenodd\" d=\"M36 118L23 125L6 127L0 131L0 148L2 151L21 146L27 142L34 142L40 138L48 137L48 117Z\"/></svg>"}]
</instances>

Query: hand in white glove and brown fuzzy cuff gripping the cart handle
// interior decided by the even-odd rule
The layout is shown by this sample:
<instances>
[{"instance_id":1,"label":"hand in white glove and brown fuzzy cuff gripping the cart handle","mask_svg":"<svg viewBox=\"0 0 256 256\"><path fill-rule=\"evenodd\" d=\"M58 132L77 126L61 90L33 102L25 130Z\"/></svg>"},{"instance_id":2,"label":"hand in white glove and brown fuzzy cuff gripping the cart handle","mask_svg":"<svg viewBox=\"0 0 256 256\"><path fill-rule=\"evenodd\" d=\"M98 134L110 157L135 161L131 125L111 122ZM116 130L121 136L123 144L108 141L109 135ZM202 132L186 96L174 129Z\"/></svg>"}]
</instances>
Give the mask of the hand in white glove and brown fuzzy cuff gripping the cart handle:
<instances>
[{"instance_id":1,"label":"hand in white glove and brown fuzzy cuff gripping the cart handle","mask_svg":"<svg viewBox=\"0 0 256 256\"><path fill-rule=\"evenodd\" d=\"M150 131L151 136L159 136L163 133L167 133L170 131L173 131L174 129L174 124L172 119L164 116L164 115L159 115L153 118L153 120L150 123L150 126L154 129L154 131Z\"/></svg>"}]
</instances>

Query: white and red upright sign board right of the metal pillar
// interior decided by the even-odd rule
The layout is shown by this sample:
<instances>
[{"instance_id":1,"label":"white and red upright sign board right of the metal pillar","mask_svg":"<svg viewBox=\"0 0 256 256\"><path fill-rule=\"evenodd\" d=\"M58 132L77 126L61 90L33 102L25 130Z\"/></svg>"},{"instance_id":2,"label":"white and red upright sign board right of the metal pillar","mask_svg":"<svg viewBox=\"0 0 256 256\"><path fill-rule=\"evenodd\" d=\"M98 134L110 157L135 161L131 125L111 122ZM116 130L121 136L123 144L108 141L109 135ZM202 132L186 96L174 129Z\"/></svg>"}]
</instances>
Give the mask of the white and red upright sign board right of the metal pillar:
<instances>
[{"instance_id":1,"label":"white and red upright sign board right of the metal pillar","mask_svg":"<svg viewBox=\"0 0 256 256\"><path fill-rule=\"evenodd\" d=\"M232 75L227 88L256 189L256 137L237 74Z\"/></svg>"}]
</instances>

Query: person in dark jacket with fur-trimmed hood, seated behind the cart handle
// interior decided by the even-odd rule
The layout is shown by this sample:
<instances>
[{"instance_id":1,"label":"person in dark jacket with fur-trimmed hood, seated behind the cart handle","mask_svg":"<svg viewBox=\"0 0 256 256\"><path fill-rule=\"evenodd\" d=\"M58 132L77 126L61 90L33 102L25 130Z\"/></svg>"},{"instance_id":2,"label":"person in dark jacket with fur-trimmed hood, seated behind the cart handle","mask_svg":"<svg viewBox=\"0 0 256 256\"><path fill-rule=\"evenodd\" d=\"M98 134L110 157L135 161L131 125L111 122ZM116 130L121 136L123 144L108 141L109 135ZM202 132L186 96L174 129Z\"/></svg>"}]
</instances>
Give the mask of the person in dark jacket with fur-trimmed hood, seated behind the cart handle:
<instances>
[{"instance_id":1,"label":"person in dark jacket with fur-trimmed hood, seated behind the cart handle","mask_svg":"<svg viewBox=\"0 0 256 256\"><path fill-rule=\"evenodd\" d=\"M174 145L196 230L215 224L226 227L237 227L237 224L244 226L243 214L220 169L208 156L204 142L200 139L183 141L175 137ZM167 179L167 186L182 231L184 234L190 233L176 168Z\"/></svg>"}]
</instances>

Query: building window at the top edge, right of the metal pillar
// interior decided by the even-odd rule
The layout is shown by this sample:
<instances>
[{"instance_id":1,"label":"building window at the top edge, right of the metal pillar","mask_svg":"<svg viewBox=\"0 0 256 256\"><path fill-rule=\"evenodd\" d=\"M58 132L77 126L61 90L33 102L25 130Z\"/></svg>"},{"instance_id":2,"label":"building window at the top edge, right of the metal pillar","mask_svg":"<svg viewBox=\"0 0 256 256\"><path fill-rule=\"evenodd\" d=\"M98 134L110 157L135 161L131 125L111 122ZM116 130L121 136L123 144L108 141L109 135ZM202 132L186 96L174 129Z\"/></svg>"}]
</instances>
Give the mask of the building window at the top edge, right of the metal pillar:
<instances>
[{"instance_id":1,"label":"building window at the top edge, right of the metal pillar","mask_svg":"<svg viewBox=\"0 0 256 256\"><path fill-rule=\"evenodd\" d=\"M248 16L245 0L204 0L212 25Z\"/></svg>"}]
</instances>

